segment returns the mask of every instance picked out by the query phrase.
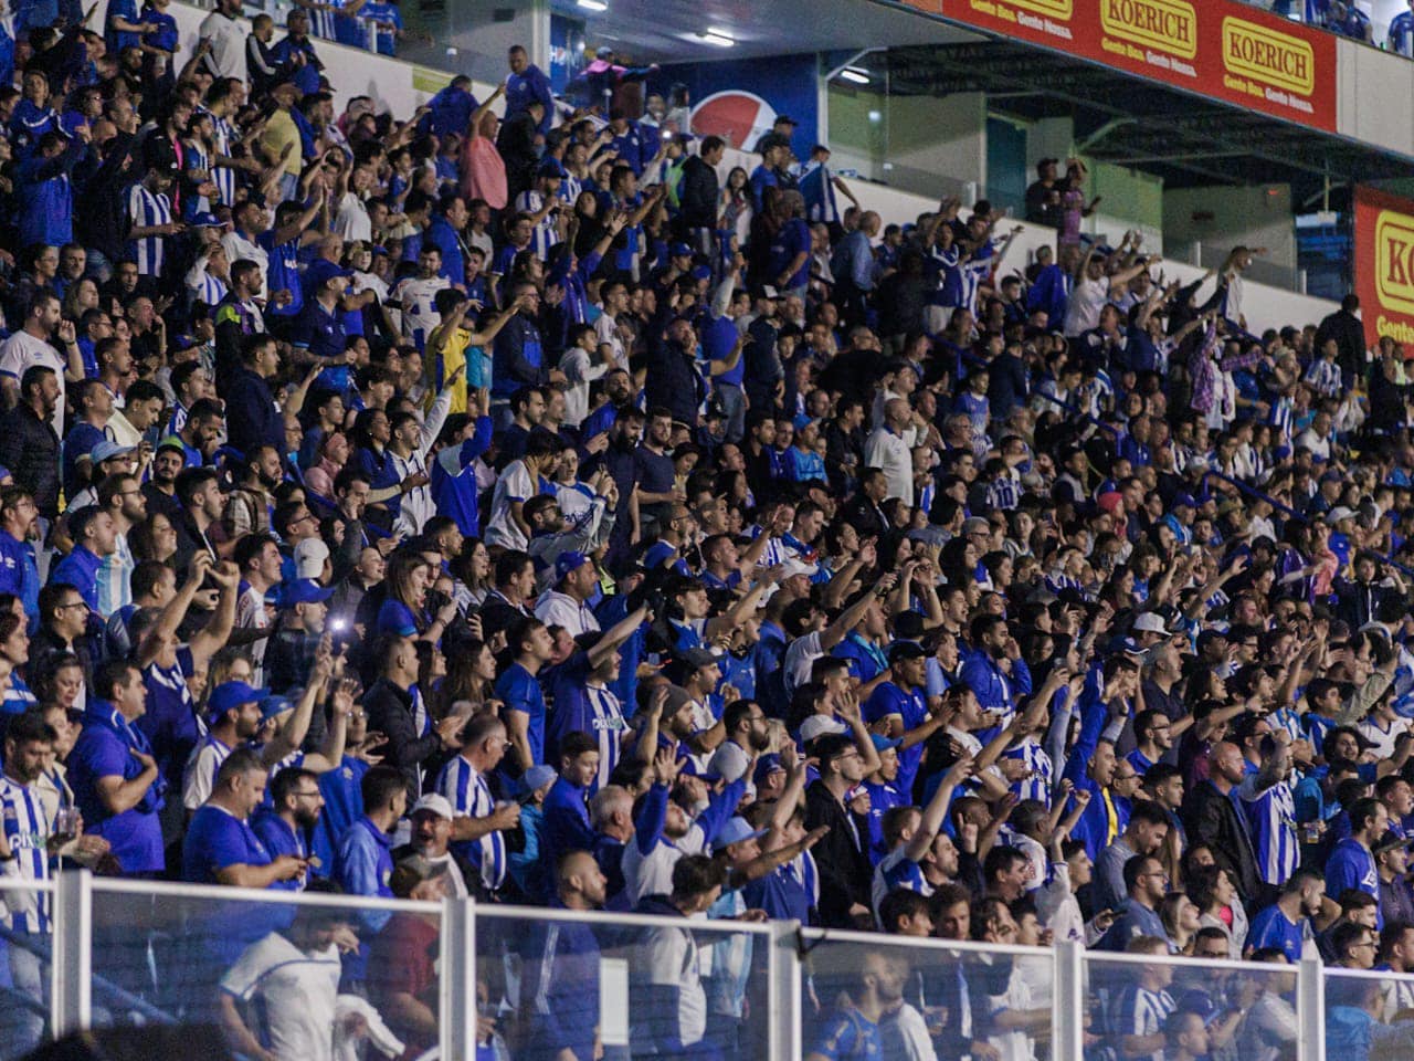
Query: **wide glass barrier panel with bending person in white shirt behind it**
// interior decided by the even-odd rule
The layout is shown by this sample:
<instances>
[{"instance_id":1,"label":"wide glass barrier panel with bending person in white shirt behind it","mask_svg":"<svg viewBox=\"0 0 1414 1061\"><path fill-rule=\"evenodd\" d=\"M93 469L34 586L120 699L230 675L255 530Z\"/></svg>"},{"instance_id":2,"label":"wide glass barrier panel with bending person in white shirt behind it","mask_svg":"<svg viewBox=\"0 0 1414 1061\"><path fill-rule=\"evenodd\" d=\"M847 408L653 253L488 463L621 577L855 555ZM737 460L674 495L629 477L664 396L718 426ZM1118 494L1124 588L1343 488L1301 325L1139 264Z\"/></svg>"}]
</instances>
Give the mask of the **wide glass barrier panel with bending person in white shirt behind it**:
<instances>
[{"instance_id":1,"label":"wide glass barrier panel with bending person in white shirt behind it","mask_svg":"<svg viewBox=\"0 0 1414 1061\"><path fill-rule=\"evenodd\" d=\"M280 1061L438 1044L440 905L230 893L96 881L93 1024L214 1026Z\"/></svg>"}]
</instances>

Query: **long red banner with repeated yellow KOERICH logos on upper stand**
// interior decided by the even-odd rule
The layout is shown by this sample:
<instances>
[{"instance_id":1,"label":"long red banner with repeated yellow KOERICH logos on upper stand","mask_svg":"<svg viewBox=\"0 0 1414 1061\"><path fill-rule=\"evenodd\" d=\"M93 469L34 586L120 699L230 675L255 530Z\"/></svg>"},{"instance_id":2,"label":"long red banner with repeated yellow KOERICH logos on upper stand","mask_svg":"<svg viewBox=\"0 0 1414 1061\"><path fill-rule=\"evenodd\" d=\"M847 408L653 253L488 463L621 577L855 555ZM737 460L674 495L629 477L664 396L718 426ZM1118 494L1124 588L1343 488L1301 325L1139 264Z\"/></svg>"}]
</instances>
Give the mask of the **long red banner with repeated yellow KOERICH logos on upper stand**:
<instances>
[{"instance_id":1,"label":"long red banner with repeated yellow KOERICH logos on upper stand","mask_svg":"<svg viewBox=\"0 0 1414 1061\"><path fill-rule=\"evenodd\" d=\"M1335 37L1236 0L904 0L1004 37L1335 132Z\"/></svg>"}]
</instances>

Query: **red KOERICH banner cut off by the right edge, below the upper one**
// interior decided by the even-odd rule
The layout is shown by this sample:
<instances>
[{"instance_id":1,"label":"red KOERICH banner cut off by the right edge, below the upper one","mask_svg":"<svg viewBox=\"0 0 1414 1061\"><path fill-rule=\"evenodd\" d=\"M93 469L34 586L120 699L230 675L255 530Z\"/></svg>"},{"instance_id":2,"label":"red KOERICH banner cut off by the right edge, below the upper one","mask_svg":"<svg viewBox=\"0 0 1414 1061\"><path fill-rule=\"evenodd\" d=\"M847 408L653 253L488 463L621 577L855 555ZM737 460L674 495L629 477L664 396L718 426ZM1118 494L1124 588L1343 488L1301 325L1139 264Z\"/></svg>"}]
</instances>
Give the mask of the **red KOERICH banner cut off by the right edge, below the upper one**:
<instances>
[{"instance_id":1,"label":"red KOERICH banner cut off by the right edge, below the upper one","mask_svg":"<svg viewBox=\"0 0 1414 1061\"><path fill-rule=\"evenodd\" d=\"M1367 342L1414 348L1414 199L1355 190L1355 293Z\"/></svg>"}]
</instances>

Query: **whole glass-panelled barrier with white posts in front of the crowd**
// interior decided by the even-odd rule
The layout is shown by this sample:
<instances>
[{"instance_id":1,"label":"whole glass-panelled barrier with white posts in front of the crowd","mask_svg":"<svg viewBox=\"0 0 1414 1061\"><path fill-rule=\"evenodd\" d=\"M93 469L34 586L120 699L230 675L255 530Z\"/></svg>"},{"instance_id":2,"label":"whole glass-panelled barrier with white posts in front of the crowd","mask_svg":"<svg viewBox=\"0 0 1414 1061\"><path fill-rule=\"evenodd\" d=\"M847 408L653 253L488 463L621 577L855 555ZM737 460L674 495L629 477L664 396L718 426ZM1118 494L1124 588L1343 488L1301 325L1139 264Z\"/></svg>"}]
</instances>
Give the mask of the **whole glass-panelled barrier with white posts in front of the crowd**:
<instances>
[{"instance_id":1,"label":"whole glass-panelled barrier with white posts in front of the crowd","mask_svg":"<svg viewBox=\"0 0 1414 1061\"><path fill-rule=\"evenodd\" d=\"M970 1034L1008 1058L1099 1061L1134 1031L1140 990L1200 1013L1215 1057L1325 1061L1328 1007L1340 1007L1332 1057L1360 1011L1379 1014L1370 1019L1376 1043L1414 1048L1414 975L1326 969L1315 958L1294 966L1157 958L1075 942L959 944L796 922L369 900L86 871L38 887L0 881L0 901L11 915L38 904L48 920L27 932L4 918L6 1060L78 1030L201 1026L222 1028L229 1044L240 1027L259 1038L271 1024L327 1036L329 1057L352 1055L349 1040L366 1034L365 1058L445 1061L472 1061L478 1045L506 1061L553 1057L564 1045L557 1034L592 1028L591 1048L626 1061L683 1054L674 1036L686 992L700 1007L708 1055L796 1061L830 1038L865 976L885 1013L899 999L919 1011L939 1058ZM540 963L549 935L571 958ZM341 969L329 948L352 946L335 996ZM994 1024L969 1028L963 1010ZM998 1030L998 1014L1014 1014L1011 1031ZM1004 1034L1025 1041L997 1041Z\"/></svg>"}]
</instances>

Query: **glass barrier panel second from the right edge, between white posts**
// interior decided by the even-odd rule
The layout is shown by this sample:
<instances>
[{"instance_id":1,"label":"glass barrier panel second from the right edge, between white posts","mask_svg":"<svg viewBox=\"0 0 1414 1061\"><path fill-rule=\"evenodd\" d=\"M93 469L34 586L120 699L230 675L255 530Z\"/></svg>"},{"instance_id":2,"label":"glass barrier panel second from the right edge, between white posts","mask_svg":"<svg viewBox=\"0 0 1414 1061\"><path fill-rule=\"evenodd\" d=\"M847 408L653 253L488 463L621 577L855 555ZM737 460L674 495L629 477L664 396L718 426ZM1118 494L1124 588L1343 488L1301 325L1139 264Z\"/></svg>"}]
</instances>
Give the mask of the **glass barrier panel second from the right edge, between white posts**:
<instances>
[{"instance_id":1,"label":"glass barrier panel second from the right edge, between white posts","mask_svg":"<svg viewBox=\"0 0 1414 1061\"><path fill-rule=\"evenodd\" d=\"M1297 968L1285 958L1210 962L1089 951L1083 968L1086 1061L1159 1061L1181 1048L1198 1057L1301 1061Z\"/></svg>"}]
</instances>

